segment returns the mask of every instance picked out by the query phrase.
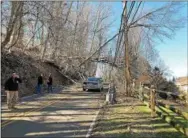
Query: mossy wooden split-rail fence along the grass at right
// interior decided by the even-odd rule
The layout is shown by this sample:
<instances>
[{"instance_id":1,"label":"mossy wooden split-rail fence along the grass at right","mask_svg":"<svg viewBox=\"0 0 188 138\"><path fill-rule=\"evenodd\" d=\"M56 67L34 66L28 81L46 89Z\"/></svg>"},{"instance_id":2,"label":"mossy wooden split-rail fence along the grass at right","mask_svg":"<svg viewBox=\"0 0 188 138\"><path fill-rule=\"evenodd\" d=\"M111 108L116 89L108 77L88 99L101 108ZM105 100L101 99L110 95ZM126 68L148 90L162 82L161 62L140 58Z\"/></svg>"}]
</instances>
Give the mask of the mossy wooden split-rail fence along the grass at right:
<instances>
[{"instance_id":1,"label":"mossy wooden split-rail fence along the grass at right","mask_svg":"<svg viewBox=\"0 0 188 138\"><path fill-rule=\"evenodd\" d=\"M181 100L186 100L185 96L177 95L173 92L155 90L153 87L143 87L142 85L140 85L139 89L134 90L138 93L139 99L151 109L152 117L155 117L155 115L160 116L178 131L188 136L188 112L182 111L173 105L167 105L158 101L159 93L165 93L168 96L173 95ZM186 108L188 107L186 106Z\"/></svg>"}]
</instances>

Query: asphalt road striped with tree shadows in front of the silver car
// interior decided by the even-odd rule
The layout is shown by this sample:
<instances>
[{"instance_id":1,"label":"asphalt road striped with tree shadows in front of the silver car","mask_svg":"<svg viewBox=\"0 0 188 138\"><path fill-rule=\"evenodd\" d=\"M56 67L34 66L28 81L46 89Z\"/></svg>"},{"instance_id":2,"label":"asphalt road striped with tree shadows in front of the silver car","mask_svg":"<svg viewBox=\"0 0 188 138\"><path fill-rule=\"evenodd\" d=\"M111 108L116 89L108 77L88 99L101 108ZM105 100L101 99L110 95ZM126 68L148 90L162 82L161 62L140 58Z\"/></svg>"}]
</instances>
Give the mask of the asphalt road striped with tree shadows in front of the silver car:
<instances>
[{"instance_id":1,"label":"asphalt road striped with tree shadows in front of the silver car","mask_svg":"<svg viewBox=\"0 0 188 138\"><path fill-rule=\"evenodd\" d=\"M98 92L67 90L2 106L2 137L85 137L102 100Z\"/></svg>"}]
</instances>

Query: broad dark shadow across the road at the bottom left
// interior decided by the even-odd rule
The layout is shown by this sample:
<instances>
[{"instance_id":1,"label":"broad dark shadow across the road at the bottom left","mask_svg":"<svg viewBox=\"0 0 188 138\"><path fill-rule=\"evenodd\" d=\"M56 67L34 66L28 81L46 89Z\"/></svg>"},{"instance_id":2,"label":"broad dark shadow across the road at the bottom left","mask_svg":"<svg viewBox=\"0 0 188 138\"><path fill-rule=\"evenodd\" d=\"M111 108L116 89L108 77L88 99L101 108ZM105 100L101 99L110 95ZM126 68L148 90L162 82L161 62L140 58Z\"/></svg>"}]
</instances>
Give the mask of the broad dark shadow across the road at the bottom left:
<instances>
[{"instance_id":1,"label":"broad dark shadow across the road at the bottom left","mask_svg":"<svg viewBox=\"0 0 188 138\"><path fill-rule=\"evenodd\" d=\"M83 123L88 123L84 125ZM73 121L73 122L51 122L38 123L26 120L17 120L8 127L15 127L19 124L17 129L2 130L2 137L85 137L89 128L90 121ZM27 127L29 126L29 127ZM78 129L79 128L79 129ZM79 130L79 131L78 131Z\"/></svg>"}]
</instances>

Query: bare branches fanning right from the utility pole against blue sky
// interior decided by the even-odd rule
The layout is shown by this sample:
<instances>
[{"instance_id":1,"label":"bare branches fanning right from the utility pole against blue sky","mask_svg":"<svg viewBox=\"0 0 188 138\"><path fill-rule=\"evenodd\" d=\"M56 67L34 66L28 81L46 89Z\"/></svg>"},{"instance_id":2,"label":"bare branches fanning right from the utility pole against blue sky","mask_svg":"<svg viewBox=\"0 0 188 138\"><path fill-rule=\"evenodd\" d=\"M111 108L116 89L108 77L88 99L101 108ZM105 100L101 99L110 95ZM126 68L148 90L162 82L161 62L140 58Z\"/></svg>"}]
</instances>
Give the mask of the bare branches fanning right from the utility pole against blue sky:
<instances>
[{"instance_id":1,"label":"bare branches fanning right from the utility pole against blue sky","mask_svg":"<svg viewBox=\"0 0 188 138\"><path fill-rule=\"evenodd\" d=\"M177 29L183 27L183 22L186 21L181 16L176 16L181 7L180 3L169 2L161 8L138 17L129 24L129 27L144 27L153 31L153 35L159 39L162 37L171 38Z\"/></svg>"}]
</instances>

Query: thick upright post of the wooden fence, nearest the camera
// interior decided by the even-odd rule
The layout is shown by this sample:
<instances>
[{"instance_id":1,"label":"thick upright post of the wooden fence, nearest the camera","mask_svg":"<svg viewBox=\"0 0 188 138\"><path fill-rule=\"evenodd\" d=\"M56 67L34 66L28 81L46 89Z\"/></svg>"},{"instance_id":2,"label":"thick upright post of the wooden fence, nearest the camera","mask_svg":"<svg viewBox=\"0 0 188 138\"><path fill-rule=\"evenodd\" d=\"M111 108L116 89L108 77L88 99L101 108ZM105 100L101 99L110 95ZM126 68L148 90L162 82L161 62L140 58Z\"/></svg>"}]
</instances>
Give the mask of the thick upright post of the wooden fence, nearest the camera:
<instances>
[{"instance_id":1,"label":"thick upright post of the wooden fence, nearest the camera","mask_svg":"<svg viewBox=\"0 0 188 138\"><path fill-rule=\"evenodd\" d=\"M151 108L151 116L155 116L155 89L153 89L153 85L150 88L150 108Z\"/></svg>"}]
</instances>

